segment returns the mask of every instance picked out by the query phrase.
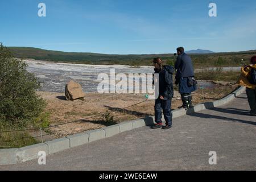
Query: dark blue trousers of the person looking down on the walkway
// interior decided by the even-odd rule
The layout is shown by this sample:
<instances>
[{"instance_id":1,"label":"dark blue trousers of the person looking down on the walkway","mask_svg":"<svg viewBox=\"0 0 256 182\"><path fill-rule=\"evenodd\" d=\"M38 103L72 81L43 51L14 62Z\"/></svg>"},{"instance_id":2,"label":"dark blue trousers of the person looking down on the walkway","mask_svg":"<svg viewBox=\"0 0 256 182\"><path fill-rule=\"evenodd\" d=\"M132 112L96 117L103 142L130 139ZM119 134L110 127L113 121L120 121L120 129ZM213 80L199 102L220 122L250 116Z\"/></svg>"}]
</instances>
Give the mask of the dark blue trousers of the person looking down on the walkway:
<instances>
[{"instance_id":1,"label":"dark blue trousers of the person looking down on the walkway","mask_svg":"<svg viewBox=\"0 0 256 182\"><path fill-rule=\"evenodd\" d=\"M172 111L171 111L172 100L160 100L158 98L155 101L155 122L162 123L162 109L166 125L172 126Z\"/></svg>"}]
</instances>

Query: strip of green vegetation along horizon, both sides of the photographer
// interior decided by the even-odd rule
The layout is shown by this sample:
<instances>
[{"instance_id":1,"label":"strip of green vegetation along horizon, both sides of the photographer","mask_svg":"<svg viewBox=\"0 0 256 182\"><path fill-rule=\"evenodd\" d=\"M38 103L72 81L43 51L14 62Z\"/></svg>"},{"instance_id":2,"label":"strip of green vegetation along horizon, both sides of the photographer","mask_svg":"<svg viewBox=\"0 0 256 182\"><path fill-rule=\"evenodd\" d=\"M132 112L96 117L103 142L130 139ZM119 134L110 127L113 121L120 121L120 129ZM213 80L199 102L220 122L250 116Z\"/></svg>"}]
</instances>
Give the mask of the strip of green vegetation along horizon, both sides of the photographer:
<instances>
[{"instance_id":1,"label":"strip of green vegetation along horizon, both sides of the photographer","mask_svg":"<svg viewBox=\"0 0 256 182\"><path fill-rule=\"evenodd\" d=\"M172 54L160 55L106 55L100 53L47 51L30 47L9 47L15 57L23 59L47 60L55 63L76 64L122 64L131 66L152 65L154 57L161 57L165 64L174 65ZM249 63L255 51L224 52L191 55L195 68L202 67L230 67Z\"/></svg>"}]
</instances>

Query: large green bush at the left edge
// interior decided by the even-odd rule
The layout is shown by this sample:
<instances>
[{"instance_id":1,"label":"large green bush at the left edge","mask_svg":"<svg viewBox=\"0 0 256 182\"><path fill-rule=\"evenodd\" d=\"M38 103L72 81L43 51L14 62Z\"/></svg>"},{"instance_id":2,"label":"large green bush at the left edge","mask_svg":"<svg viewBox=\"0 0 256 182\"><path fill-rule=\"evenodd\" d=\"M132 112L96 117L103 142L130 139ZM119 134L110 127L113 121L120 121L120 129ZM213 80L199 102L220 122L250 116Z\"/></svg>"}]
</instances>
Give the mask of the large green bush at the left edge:
<instances>
[{"instance_id":1,"label":"large green bush at the left edge","mask_svg":"<svg viewBox=\"0 0 256 182\"><path fill-rule=\"evenodd\" d=\"M49 126L49 114L44 113L46 102L36 94L40 83L33 73L27 72L26 63L15 59L2 44L0 61L0 131ZM0 133L0 146L31 143L35 140L28 133Z\"/></svg>"}]
</instances>

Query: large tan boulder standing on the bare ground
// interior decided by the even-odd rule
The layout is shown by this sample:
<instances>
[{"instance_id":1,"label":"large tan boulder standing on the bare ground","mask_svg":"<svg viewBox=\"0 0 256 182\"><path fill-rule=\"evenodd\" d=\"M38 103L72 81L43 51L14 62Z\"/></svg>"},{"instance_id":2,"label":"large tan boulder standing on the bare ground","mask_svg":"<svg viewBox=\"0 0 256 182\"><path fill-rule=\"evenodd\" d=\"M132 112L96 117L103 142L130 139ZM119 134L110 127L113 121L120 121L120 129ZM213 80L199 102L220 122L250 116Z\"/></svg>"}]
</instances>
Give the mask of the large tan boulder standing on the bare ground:
<instances>
[{"instance_id":1,"label":"large tan boulder standing on the bare ground","mask_svg":"<svg viewBox=\"0 0 256 182\"><path fill-rule=\"evenodd\" d=\"M65 97L68 101L73 101L78 98L84 98L84 92L82 92L82 86L77 82L71 80L66 84Z\"/></svg>"}]
</instances>

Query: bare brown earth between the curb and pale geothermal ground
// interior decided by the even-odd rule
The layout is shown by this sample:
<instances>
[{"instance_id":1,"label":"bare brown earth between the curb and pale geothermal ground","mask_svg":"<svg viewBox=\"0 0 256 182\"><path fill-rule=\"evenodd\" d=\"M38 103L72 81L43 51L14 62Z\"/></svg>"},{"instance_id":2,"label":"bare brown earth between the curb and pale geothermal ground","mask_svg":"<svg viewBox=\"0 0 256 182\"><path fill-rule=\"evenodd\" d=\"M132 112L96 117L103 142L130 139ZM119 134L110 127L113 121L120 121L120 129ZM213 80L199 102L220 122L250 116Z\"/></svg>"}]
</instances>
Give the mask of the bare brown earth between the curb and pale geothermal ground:
<instances>
[{"instance_id":1,"label":"bare brown earth between the curb and pale geothermal ground","mask_svg":"<svg viewBox=\"0 0 256 182\"><path fill-rule=\"evenodd\" d=\"M193 104L218 100L228 95L236 87L236 85L229 83L214 84L212 89L197 89L193 93ZM154 115L155 101L146 101L131 106L145 101L144 94L86 93L84 100L75 101L67 101L64 93L38 92L38 94L47 101L46 111L50 113L51 125L72 122L50 128L49 132L52 138L100 129L114 123L144 118L148 114ZM180 105L182 105L181 98L179 93L175 92L172 109L177 109ZM125 107L127 108L123 109ZM91 118L93 116L97 117Z\"/></svg>"}]
</instances>

